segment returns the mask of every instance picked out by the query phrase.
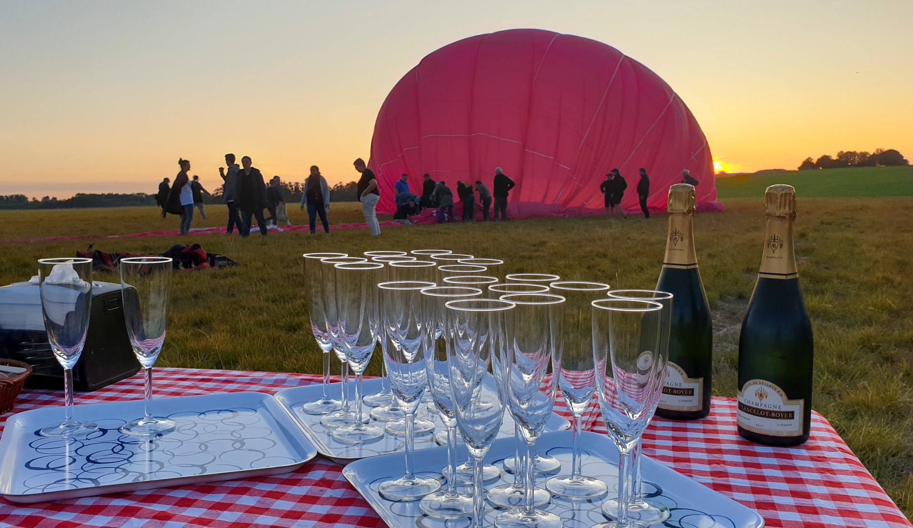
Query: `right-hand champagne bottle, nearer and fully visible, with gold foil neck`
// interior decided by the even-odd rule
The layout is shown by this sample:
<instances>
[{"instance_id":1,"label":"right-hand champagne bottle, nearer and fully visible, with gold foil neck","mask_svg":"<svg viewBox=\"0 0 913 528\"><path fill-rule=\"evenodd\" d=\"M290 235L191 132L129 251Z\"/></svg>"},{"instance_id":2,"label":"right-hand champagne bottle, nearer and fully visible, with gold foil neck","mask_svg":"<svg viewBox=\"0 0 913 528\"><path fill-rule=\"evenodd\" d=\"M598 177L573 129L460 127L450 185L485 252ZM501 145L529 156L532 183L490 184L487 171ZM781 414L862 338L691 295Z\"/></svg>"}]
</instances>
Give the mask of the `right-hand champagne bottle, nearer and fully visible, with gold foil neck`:
<instances>
[{"instance_id":1,"label":"right-hand champagne bottle, nearer and fully visible, with gold foil neck","mask_svg":"<svg viewBox=\"0 0 913 528\"><path fill-rule=\"evenodd\" d=\"M761 271L739 336L736 422L746 440L794 446L808 440L814 349L792 248L795 189L771 185L764 202Z\"/></svg>"}]
</instances>

